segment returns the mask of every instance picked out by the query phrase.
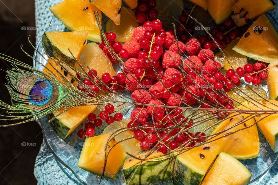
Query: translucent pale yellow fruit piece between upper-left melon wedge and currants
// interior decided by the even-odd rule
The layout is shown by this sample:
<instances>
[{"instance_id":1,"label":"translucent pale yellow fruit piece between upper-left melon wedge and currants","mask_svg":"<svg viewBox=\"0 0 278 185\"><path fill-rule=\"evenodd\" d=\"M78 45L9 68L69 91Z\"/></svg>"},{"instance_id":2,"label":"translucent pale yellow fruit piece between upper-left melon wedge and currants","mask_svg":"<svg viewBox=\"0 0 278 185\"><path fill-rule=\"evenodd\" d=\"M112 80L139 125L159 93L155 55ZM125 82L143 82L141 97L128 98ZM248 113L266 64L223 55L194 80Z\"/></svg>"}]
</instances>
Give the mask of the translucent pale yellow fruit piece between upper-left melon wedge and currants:
<instances>
[{"instance_id":1,"label":"translucent pale yellow fruit piece between upper-left melon wedge and currants","mask_svg":"<svg viewBox=\"0 0 278 185\"><path fill-rule=\"evenodd\" d=\"M82 55L83 57L79 60L79 64L86 73L88 73L89 69L94 69L98 72L98 77L101 77L103 73L109 73L111 76L115 75L116 72L110 60L96 43L87 44L82 51ZM76 66L76 70L84 73L79 65Z\"/></svg>"}]
</instances>

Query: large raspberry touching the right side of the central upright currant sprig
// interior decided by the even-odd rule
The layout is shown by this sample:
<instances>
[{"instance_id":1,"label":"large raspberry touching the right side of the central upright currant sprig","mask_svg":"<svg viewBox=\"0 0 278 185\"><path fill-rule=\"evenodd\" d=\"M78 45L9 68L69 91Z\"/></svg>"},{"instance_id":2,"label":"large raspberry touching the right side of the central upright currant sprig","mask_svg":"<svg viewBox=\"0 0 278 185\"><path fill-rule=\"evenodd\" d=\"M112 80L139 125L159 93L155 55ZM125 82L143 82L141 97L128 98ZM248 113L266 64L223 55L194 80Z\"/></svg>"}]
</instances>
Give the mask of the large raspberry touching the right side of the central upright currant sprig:
<instances>
[{"instance_id":1,"label":"large raspberry touching the right side of the central upright currant sprig","mask_svg":"<svg viewBox=\"0 0 278 185\"><path fill-rule=\"evenodd\" d=\"M167 52L162 53L162 67L165 69L178 68L177 64L179 66L181 65L180 55L174 53L173 51L167 51Z\"/></svg>"}]
</instances>

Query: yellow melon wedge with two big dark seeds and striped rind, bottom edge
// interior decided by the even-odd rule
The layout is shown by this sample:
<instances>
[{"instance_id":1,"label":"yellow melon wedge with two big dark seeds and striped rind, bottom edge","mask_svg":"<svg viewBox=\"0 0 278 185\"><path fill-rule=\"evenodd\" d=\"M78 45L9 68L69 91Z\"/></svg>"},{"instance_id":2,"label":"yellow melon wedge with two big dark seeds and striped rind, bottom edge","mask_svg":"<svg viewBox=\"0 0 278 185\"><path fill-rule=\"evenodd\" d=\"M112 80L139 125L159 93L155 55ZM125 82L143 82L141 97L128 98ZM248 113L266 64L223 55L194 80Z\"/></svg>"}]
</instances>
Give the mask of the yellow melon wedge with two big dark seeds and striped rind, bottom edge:
<instances>
[{"instance_id":1,"label":"yellow melon wedge with two big dark seeds and striped rind, bottom edge","mask_svg":"<svg viewBox=\"0 0 278 185\"><path fill-rule=\"evenodd\" d=\"M211 142L178 155L171 166L173 184L199 185L219 152L218 144Z\"/></svg>"}]
</instances>

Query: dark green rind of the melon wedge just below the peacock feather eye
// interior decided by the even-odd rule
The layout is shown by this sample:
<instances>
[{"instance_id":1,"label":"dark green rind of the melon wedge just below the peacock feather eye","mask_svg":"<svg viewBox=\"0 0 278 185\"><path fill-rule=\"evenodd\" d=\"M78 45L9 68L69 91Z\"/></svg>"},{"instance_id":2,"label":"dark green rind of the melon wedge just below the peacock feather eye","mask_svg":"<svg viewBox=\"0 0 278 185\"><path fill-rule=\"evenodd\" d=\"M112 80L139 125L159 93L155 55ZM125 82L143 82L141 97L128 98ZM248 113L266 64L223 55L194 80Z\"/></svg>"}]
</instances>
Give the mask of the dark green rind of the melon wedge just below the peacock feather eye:
<instances>
[{"instance_id":1,"label":"dark green rind of the melon wedge just below the peacock feather eye","mask_svg":"<svg viewBox=\"0 0 278 185\"><path fill-rule=\"evenodd\" d=\"M52 119L54 117L54 114L50 114L46 116L48 120ZM56 132L56 134L62 138L65 139L68 134L70 134L70 128L64 125L60 120L55 118L53 121L50 122L50 126L52 129Z\"/></svg>"}]
</instances>

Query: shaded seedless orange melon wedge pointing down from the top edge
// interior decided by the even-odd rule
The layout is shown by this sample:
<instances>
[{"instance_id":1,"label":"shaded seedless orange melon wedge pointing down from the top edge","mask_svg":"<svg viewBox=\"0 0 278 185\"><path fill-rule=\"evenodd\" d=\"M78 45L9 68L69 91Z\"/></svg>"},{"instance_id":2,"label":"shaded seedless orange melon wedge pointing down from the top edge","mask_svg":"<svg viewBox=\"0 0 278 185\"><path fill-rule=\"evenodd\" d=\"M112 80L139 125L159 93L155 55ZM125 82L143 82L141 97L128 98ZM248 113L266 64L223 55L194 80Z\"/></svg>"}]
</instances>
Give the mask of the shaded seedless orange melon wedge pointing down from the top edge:
<instances>
[{"instance_id":1,"label":"shaded seedless orange melon wedge pointing down from the top edge","mask_svg":"<svg viewBox=\"0 0 278 185\"><path fill-rule=\"evenodd\" d=\"M224 22L232 14L237 0L207 0L208 12L216 24Z\"/></svg>"}]
</instances>

